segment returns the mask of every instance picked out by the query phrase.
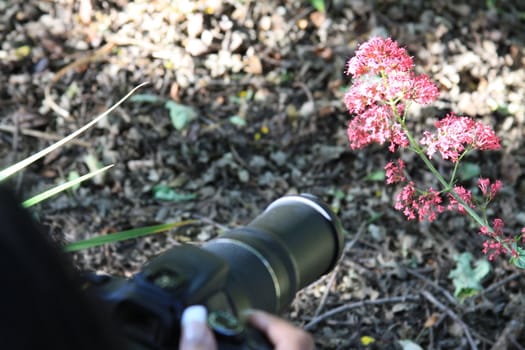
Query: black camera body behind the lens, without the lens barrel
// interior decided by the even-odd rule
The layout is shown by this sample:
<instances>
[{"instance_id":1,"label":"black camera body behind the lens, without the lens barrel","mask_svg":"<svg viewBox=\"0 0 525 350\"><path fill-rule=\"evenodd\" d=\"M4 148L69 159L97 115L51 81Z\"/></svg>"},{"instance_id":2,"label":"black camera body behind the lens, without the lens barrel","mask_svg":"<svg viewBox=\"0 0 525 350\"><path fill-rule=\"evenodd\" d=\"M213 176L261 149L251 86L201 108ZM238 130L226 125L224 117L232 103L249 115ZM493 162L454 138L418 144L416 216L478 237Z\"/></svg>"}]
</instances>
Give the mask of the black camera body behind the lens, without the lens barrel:
<instances>
[{"instance_id":1,"label":"black camera body behind the lens, without the lens barrel","mask_svg":"<svg viewBox=\"0 0 525 350\"><path fill-rule=\"evenodd\" d=\"M90 275L89 290L125 336L128 349L176 349L180 319L189 305L205 305L219 349L272 349L258 332L243 325L239 306L227 293L228 264L213 253L181 245L151 260L131 279ZM247 307L244 307L244 309Z\"/></svg>"}]
</instances>

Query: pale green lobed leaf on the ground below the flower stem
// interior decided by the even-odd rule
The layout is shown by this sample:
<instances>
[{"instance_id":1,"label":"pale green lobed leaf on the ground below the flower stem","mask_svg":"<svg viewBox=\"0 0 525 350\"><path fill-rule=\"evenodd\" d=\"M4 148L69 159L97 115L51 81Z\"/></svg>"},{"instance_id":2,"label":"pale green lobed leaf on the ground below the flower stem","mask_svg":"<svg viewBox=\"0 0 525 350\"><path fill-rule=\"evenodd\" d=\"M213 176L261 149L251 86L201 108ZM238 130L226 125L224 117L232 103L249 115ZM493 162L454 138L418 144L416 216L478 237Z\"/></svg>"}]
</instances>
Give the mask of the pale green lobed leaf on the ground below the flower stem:
<instances>
[{"instance_id":1,"label":"pale green lobed leaf on the ground below the flower stem","mask_svg":"<svg viewBox=\"0 0 525 350\"><path fill-rule=\"evenodd\" d=\"M481 280L490 272L490 264L486 259L475 262L475 268L471 266L472 254L466 252L455 258L456 268L448 274L454 286L454 296L460 301L478 294L482 290Z\"/></svg>"}]
</instances>

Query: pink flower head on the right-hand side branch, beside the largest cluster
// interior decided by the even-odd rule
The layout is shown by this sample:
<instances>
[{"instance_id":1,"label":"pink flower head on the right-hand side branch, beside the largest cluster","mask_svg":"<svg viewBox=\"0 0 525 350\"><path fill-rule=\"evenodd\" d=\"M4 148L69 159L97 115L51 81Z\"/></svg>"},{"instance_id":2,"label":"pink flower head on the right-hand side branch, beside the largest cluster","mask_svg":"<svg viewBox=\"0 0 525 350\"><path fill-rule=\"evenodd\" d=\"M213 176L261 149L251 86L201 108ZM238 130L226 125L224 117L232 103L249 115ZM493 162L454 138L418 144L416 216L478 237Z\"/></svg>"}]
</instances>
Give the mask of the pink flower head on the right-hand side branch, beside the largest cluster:
<instances>
[{"instance_id":1,"label":"pink flower head on the right-hand side branch, beside the largest cluster","mask_svg":"<svg viewBox=\"0 0 525 350\"><path fill-rule=\"evenodd\" d=\"M500 148L499 138L494 131L480 122L468 117L458 117L454 113L448 114L435 123L436 133L423 133L420 144L427 146L426 153L432 158L439 152L443 159L450 159L453 163L465 150L495 150Z\"/></svg>"}]
</instances>

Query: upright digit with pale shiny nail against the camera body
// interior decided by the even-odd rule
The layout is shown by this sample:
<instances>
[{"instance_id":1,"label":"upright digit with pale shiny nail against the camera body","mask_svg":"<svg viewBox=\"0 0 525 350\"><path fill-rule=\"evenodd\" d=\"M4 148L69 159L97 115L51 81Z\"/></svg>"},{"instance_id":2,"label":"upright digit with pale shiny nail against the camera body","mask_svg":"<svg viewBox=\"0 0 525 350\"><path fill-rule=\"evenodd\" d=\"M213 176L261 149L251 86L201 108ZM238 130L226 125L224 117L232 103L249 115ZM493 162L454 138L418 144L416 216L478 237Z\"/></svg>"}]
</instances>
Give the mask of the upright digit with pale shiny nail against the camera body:
<instances>
[{"instance_id":1,"label":"upright digit with pale shiny nail against the camera body","mask_svg":"<svg viewBox=\"0 0 525 350\"><path fill-rule=\"evenodd\" d=\"M179 350L216 350L217 343L208 328L206 308L202 305L188 307L182 313L182 336Z\"/></svg>"}]
</instances>

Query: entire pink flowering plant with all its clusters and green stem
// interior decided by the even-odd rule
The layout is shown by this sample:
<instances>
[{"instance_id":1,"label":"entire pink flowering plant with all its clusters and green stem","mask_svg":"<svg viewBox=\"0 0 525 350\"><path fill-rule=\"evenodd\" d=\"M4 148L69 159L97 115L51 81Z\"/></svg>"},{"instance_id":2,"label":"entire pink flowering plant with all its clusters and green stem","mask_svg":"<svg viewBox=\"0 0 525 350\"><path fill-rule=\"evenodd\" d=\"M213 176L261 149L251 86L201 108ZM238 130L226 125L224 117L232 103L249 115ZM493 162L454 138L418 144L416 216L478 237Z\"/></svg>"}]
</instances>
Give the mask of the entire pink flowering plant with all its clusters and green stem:
<instances>
[{"instance_id":1,"label":"entire pink flowering plant with all its clusters and green stem","mask_svg":"<svg viewBox=\"0 0 525 350\"><path fill-rule=\"evenodd\" d=\"M478 187L482 200L476 201L471 191L455 185L455 178L446 181L430 165L436 153L457 167L470 151L499 149L500 139L494 130L472 118L450 113L435 123L434 132L424 131L423 137L416 141L405 124L406 109L413 102L434 102L439 91L428 76L414 73L412 58L390 38L376 37L360 45L348 61L346 74L353 78L344 96L352 115L347 129L350 147L358 149L372 143L390 142L391 152L409 148L419 154L444 187L442 191L432 187L417 188L413 181L407 180L405 163L401 159L389 162L384 168L386 183L403 185L394 207L408 220L433 221L447 210L470 215L480 225L480 234L487 237L483 252L489 260L510 254L513 259L521 259L520 266L525 266L525 250L516 248L518 238L504 235L503 221L494 219L491 227L475 212L486 209L501 189L501 181L491 183L489 179L480 178ZM525 242L525 228L521 237Z\"/></svg>"}]
</instances>

